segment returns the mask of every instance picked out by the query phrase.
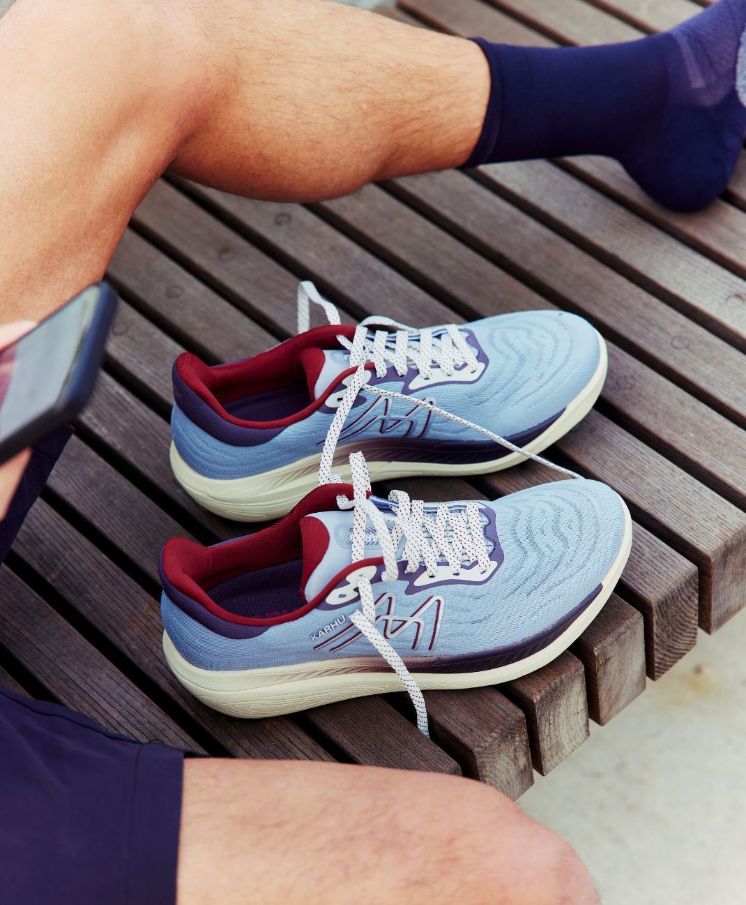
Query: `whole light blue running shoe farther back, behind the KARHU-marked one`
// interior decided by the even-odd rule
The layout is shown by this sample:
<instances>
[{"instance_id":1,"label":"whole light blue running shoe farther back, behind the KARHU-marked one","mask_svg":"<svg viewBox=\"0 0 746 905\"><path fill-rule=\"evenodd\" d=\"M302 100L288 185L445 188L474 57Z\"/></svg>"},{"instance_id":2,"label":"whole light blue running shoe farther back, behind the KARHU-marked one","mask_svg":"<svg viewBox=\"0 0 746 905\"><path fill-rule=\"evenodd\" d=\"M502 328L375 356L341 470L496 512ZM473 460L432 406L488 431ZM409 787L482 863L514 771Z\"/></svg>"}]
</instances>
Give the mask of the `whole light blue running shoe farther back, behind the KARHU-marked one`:
<instances>
[{"instance_id":1,"label":"whole light blue running shoe farther back, behind the KARHU-marked one","mask_svg":"<svg viewBox=\"0 0 746 905\"><path fill-rule=\"evenodd\" d=\"M304 329L310 301L330 325ZM301 284L299 311L302 332L268 352L216 367L176 359L171 464L218 515L285 515L316 487L319 468L326 483L355 450L375 481L507 468L578 424L606 377L599 333L560 311L345 327L311 283Z\"/></svg>"}]
</instances>

